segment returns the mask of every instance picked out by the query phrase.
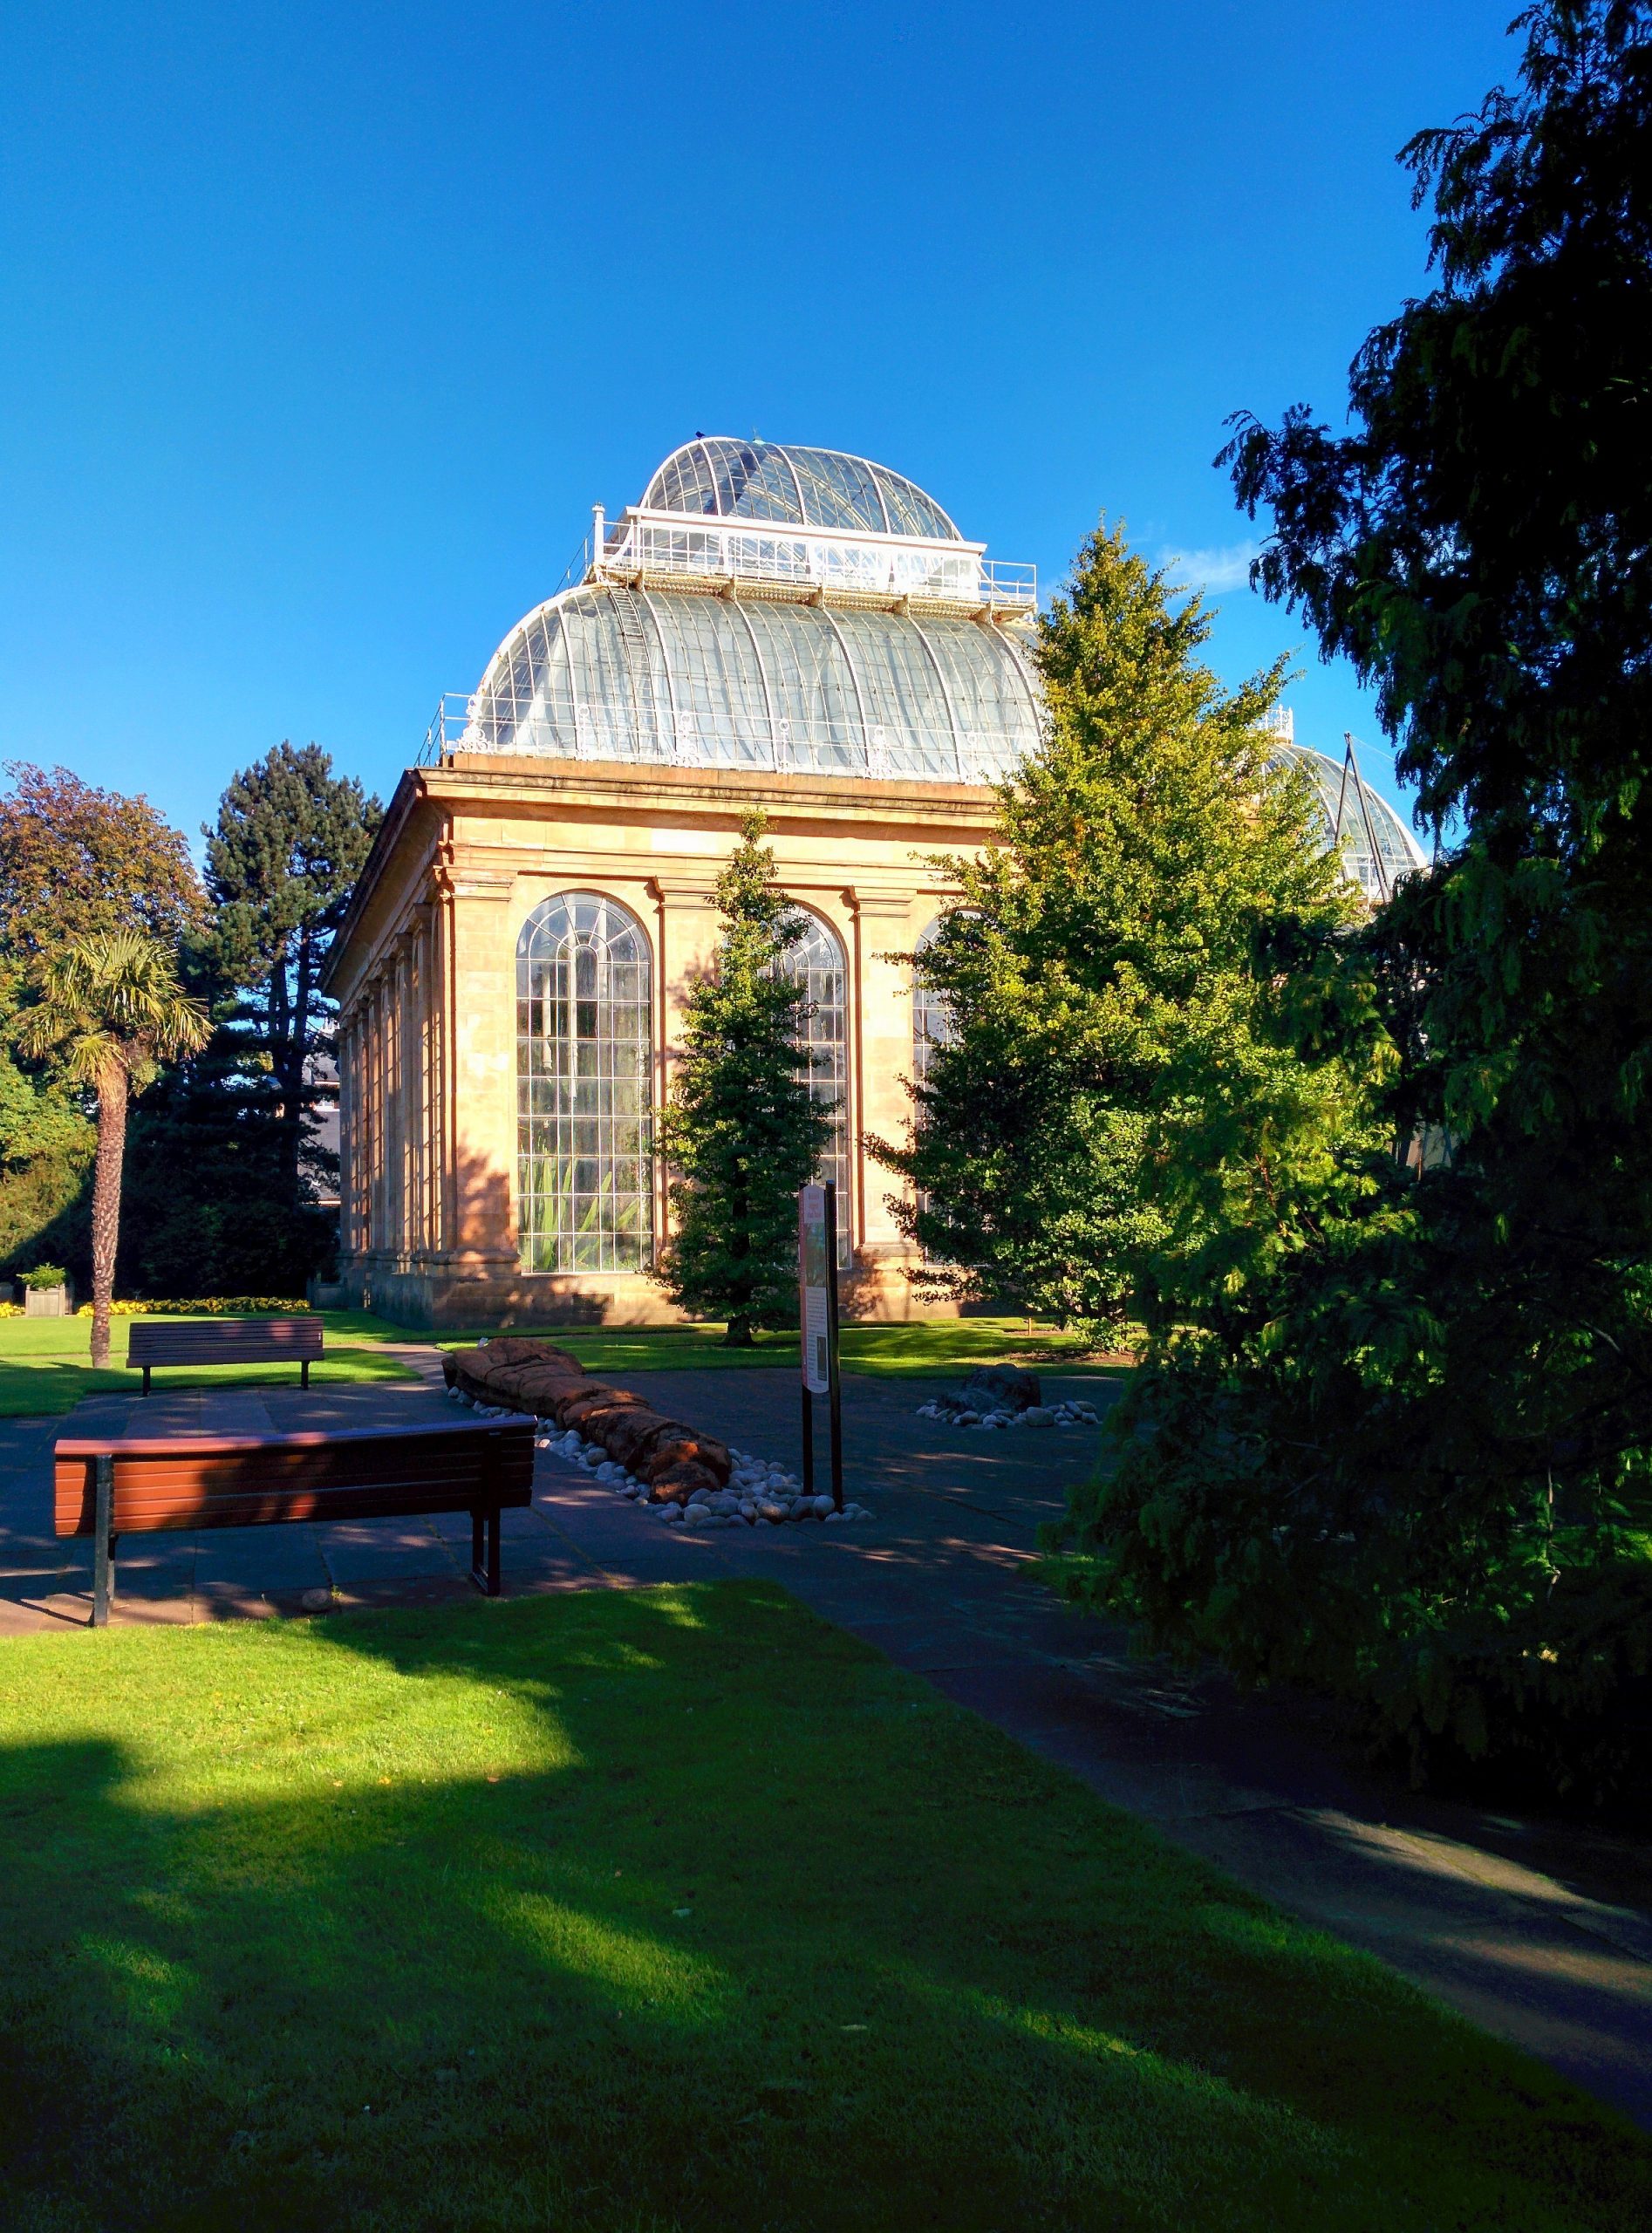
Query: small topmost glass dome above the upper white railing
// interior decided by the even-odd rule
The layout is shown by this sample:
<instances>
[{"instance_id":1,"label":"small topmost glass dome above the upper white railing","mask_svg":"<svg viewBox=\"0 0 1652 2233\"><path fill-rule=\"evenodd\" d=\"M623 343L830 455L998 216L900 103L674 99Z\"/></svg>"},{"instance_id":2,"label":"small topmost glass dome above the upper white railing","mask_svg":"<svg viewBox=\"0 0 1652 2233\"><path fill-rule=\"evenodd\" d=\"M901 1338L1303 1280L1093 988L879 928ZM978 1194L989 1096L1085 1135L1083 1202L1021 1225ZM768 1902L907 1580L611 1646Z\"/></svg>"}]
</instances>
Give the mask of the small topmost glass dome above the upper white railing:
<instances>
[{"instance_id":1,"label":"small topmost glass dome above the upper white railing","mask_svg":"<svg viewBox=\"0 0 1652 2233\"><path fill-rule=\"evenodd\" d=\"M842 449L799 449L795 442L694 435L654 473L641 509L962 543L935 498L902 473Z\"/></svg>"}]
</instances>

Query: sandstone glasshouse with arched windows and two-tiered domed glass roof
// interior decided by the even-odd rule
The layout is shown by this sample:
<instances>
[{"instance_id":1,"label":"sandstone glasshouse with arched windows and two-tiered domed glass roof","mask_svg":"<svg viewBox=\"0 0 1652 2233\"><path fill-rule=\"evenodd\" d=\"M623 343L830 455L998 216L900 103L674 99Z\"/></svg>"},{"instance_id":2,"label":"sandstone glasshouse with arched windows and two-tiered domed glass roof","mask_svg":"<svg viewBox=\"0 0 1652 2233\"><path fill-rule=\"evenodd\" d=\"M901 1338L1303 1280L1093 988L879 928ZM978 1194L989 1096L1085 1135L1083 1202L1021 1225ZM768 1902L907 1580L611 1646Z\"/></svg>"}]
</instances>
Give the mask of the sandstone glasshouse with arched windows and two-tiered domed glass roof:
<instances>
[{"instance_id":1,"label":"sandstone glasshouse with arched windows and two-tiered domed glass roof","mask_svg":"<svg viewBox=\"0 0 1652 2233\"><path fill-rule=\"evenodd\" d=\"M911 956L1036 744L1038 585L911 480L828 449L694 438L480 686L444 699L328 965L342 1277L409 1324L659 1322L654 1112L714 882L750 808L808 920L810 1076L833 1105L846 1304L920 1306L868 1134L900 1134L938 1029ZM1346 871L1409 833L1302 753Z\"/></svg>"}]
</instances>

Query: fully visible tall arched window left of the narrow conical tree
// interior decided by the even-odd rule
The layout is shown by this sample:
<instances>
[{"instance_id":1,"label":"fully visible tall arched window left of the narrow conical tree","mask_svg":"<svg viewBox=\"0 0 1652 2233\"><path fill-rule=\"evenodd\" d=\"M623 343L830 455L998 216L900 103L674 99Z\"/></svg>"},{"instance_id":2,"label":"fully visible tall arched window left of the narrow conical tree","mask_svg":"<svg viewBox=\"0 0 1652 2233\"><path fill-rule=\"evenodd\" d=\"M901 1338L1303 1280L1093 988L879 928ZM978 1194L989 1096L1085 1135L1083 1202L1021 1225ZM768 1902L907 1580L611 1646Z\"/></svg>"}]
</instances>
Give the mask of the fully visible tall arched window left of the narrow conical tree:
<instances>
[{"instance_id":1,"label":"fully visible tall arched window left of the narrow conical tree","mask_svg":"<svg viewBox=\"0 0 1652 2233\"><path fill-rule=\"evenodd\" d=\"M516 942L522 1271L645 1271L654 1248L652 962L641 922L560 891Z\"/></svg>"}]
</instances>

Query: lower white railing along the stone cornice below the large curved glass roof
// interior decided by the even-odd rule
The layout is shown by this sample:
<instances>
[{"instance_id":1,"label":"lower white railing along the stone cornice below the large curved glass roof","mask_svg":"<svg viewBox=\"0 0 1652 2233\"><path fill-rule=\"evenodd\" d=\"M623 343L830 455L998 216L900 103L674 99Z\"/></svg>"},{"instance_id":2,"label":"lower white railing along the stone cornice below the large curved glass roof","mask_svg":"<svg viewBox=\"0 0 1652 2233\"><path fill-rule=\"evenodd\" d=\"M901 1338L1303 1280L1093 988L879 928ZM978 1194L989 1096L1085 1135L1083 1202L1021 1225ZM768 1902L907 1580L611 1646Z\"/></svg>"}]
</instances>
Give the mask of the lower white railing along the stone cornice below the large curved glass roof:
<instances>
[{"instance_id":1,"label":"lower white railing along the stone cornice below the large curved glass roof","mask_svg":"<svg viewBox=\"0 0 1652 2233\"><path fill-rule=\"evenodd\" d=\"M487 692L451 690L424 732L420 766L460 753L525 759L605 759L665 768L750 768L766 775L871 775L886 782L1000 784L1031 744L1000 730L884 728L877 721L770 721L726 710L636 706L630 699L585 701L578 746L569 750L565 719L531 703L511 712Z\"/></svg>"}]
</instances>

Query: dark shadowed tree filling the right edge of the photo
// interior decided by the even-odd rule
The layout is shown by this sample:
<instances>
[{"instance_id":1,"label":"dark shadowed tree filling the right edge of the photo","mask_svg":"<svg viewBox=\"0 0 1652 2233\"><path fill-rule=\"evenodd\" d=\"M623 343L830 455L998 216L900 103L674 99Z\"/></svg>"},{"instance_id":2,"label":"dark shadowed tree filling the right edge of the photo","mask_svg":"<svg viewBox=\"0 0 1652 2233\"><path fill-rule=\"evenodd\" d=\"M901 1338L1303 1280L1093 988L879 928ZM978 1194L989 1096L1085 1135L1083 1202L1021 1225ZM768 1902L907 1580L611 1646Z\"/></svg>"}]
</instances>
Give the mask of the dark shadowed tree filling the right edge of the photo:
<instances>
[{"instance_id":1,"label":"dark shadowed tree filling the right edge of the photo","mask_svg":"<svg viewBox=\"0 0 1652 2233\"><path fill-rule=\"evenodd\" d=\"M1652 1737L1652 47L1525 18L1523 85L1406 150L1438 286L1353 431L1241 422L1259 574L1375 679L1456 844L1277 953L1279 1050L1395 1152L1272 1172L1246 1092L1176 1230L1067 1585L1357 1699L1420 1771L1636 1802ZM1214 1215L1212 1215L1214 1213Z\"/></svg>"}]
</instances>

